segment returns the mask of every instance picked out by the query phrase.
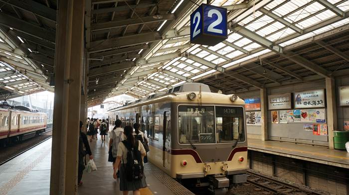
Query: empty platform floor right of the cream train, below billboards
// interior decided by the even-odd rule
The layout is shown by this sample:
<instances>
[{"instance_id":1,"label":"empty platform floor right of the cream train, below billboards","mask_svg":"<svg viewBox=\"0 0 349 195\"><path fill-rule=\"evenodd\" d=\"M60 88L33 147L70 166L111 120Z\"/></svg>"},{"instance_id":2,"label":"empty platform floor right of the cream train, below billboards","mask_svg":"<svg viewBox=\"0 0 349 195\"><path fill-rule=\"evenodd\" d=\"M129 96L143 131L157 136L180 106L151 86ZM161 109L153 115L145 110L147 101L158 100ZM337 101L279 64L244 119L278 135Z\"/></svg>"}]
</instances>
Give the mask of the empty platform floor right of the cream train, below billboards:
<instances>
[{"instance_id":1,"label":"empty platform floor right of the cream train, below billboards","mask_svg":"<svg viewBox=\"0 0 349 195\"><path fill-rule=\"evenodd\" d=\"M324 146L248 139L248 149L349 169L349 153Z\"/></svg>"}]
</instances>

